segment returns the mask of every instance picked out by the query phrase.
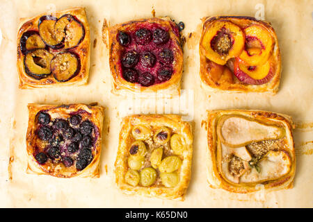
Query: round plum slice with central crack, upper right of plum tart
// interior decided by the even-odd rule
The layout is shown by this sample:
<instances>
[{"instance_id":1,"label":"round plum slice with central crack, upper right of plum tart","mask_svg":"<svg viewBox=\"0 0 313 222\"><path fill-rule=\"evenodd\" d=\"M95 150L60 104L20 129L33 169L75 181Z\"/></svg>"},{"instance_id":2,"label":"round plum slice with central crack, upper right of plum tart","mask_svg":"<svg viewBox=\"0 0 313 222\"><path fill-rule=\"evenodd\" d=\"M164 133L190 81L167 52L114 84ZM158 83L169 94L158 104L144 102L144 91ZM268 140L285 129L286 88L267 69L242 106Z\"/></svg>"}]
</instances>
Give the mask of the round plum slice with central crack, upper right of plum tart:
<instances>
[{"instance_id":1,"label":"round plum slice with central crack, upper right of plum tart","mask_svg":"<svg viewBox=\"0 0 313 222\"><path fill-rule=\"evenodd\" d=\"M72 15L66 14L54 24L54 32L57 42L63 42L65 49L77 46L85 37L83 24Z\"/></svg>"}]
</instances>

